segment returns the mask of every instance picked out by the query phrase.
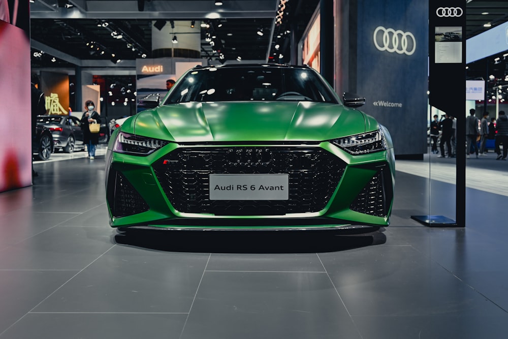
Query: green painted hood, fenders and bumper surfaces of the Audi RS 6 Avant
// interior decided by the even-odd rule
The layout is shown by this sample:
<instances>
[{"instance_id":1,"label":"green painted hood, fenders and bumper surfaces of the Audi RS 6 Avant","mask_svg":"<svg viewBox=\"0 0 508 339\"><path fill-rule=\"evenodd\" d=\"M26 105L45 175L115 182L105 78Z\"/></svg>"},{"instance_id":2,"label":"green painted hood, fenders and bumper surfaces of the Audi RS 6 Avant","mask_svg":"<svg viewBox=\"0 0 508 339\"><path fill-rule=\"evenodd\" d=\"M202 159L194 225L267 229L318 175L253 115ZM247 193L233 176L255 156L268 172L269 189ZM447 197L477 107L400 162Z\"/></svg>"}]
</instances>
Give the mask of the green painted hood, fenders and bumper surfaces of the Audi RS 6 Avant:
<instances>
[{"instance_id":1,"label":"green painted hood, fenders and bumper surfaces of the Audi RS 6 Avant","mask_svg":"<svg viewBox=\"0 0 508 339\"><path fill-rule=\"evenodd\" d=\"M132 116L120 129L115 130L108 145L106 191L110 225L249 230L388 226L395 182L390 135L373 117L346 107L338 98L336 100L336 103L303 100L191 101L162 104ZM386 145L379 151L352 154L331 142L377 130L384 131L382 135ZM163 140L165 144L144 156L122 153L115 149L119 133ZM162 183L157 168L163 163L172 164L174 160L168 158L168 155L176 154L174 152L179 150L199 149L206 153L207 149L215 151L220 147L259 147L260 152L269 152L272 147L305 149L310 152L316 150L319 154L332 157L334 162L336 158L337 163L343 164L342 174L334 183L335 186L328 188L329 198L320 210L228 215L209 211L188 212L176 208L166 194L168 188L163 187L165 184ZM170 160L164 160L166 158ZM182 172L188 170L182 169ZM115 173L121 173L121 179ZM378 197L380 203L384 204L383 212L372 214L362 210L363 207L352 208L358 204L359 196L367 194L367 187L373 177L378 178L376 180L383 185L382 190L376 191L376 195L383 195ZM127 187L125 190L128 191L125 192L136 192L136 197L132 199L142 201L144 208L131 215L115 215L113 205L129 200L131 194L124 192L122 194L125 197L119 198L119 185Z\"/></svg>"}]
</instances>

